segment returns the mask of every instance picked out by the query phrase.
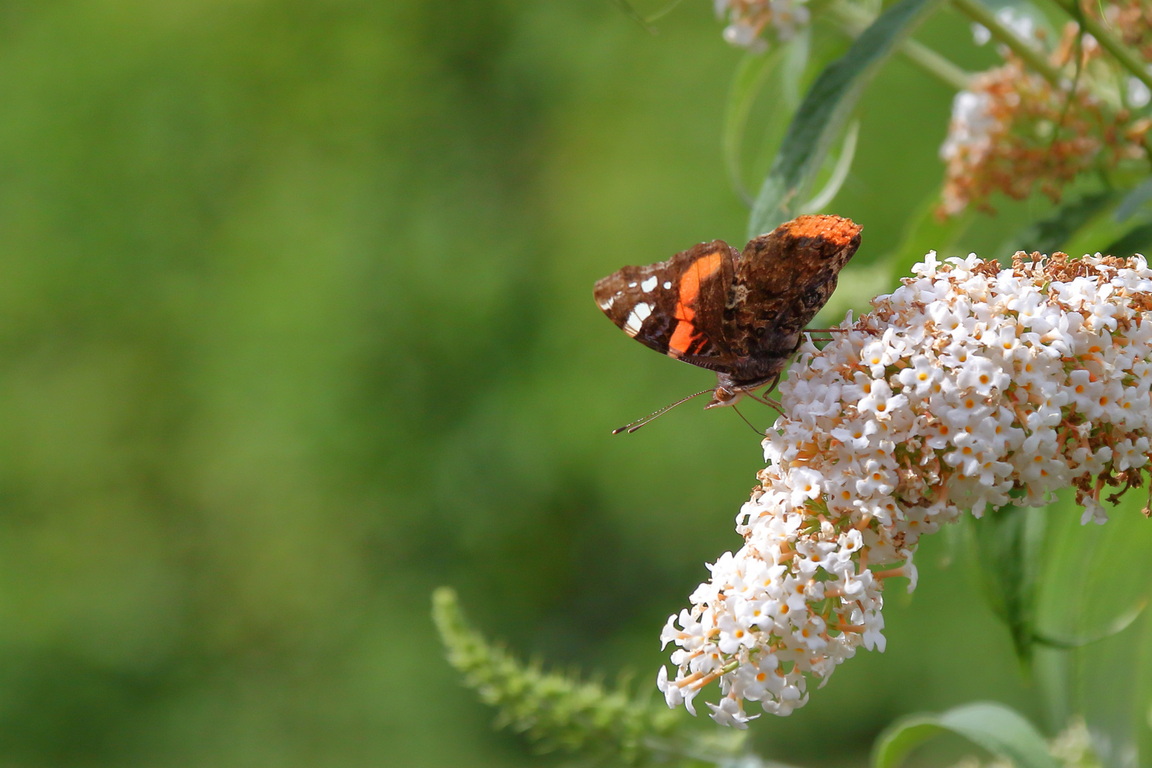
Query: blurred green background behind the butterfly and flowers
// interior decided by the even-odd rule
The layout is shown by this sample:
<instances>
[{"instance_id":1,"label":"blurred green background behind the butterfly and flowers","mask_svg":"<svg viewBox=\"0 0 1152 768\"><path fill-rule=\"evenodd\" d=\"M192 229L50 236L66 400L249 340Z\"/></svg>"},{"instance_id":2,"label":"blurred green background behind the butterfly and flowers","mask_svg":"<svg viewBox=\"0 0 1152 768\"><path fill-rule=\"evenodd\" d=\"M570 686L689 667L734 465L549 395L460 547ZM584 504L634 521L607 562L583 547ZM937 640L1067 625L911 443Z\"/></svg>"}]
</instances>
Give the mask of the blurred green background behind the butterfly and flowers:
<instances>
[{"instance_id":1,"label":"blurred green background behind the butterfly and flowers","mask_svg":"<svg viewBox=\"0 0 1152 768\"><path fill-rule=\"evenodd\" d=\"M659 30L605 0L0 5L0 765L538 762L444 662L441 584L525 655L654 679L761 465L730 412L608 434L711 374L592 282L746 218L741 53L703 0ZM948 14L919 37L994 61ZM950 98L899 60L870 89L832 206L861 274L938 187ZM925 542L887 653L759 721L765 754L1037 712L949 560Z\"/></svg>"}]
</instances>

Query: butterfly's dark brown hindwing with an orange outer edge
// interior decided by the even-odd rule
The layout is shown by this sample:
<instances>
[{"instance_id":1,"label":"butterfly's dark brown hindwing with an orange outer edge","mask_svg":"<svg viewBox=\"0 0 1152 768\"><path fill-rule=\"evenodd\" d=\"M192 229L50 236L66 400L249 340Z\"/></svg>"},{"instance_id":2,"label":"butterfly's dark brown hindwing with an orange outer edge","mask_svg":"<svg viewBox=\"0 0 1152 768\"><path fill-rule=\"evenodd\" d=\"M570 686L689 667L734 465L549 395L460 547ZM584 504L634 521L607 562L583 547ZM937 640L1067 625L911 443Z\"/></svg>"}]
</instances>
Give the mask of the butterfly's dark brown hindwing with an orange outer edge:
<instances>
[{"instance_id":1,"label":"butterfly's dark brown hindwing with an orange outer edge","mask_svg":"<svg viewBox=\"0 0 1152 768\"><path fill-rule=\"evenodd\" d=\"M744 246L723 314L737 379L782 370L801 332L836 289L840 271L859 248L859 233L841 216L805 215Z\"/></svg>"}]
</instances>

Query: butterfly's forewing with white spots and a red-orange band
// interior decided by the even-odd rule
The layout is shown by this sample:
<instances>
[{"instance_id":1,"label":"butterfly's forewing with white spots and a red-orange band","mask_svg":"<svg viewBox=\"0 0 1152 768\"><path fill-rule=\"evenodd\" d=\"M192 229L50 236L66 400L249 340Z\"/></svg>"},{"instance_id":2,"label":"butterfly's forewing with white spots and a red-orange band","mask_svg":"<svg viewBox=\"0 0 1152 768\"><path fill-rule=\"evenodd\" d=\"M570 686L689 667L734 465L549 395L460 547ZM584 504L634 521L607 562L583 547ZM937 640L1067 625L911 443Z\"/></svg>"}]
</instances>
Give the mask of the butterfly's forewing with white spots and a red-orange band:
<instances>
[{"instance_id":1,"label":"butterfly's forewing with white spots and a red-orange band","mask_svg":"<svg viewBox=\"0 0 1152 768\"><path fill-rule=\"evenodd\" d=\"M597 281L596 303L636 341L692 365L732 370L723 311L740 252L717 239Z\"/></svg>"}]
</instances>

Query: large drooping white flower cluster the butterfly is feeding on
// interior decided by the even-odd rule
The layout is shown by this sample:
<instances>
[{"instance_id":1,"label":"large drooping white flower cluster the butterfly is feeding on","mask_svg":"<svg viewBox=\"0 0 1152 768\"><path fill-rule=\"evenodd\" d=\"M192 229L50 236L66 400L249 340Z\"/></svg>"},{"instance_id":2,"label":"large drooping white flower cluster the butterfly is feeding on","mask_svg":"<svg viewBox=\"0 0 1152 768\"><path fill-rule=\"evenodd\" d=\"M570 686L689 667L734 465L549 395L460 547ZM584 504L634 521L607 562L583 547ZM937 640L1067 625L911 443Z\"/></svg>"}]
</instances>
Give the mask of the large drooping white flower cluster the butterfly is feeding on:
<instances>
[{"instance_id":1,"label":"large drooping white flower cluster the butterfly is feeding on","mask_svg":"<svg viewBox=\"0 0 1152 768\"><path fill-rule=\"evenodd\" d=\"M863 645L884 651L882 588L916 586L920 535L1077 489L1082 522L1142 485L1152 435L1152 269L1116 259L930 253L874 311L811 339L781 386L768 466L741 509L744 546L668 618L669 706L712 680L720 723L744 701L787 715ZM882 567L881 570L878 567Z\"/></svg>"}]
</instances>

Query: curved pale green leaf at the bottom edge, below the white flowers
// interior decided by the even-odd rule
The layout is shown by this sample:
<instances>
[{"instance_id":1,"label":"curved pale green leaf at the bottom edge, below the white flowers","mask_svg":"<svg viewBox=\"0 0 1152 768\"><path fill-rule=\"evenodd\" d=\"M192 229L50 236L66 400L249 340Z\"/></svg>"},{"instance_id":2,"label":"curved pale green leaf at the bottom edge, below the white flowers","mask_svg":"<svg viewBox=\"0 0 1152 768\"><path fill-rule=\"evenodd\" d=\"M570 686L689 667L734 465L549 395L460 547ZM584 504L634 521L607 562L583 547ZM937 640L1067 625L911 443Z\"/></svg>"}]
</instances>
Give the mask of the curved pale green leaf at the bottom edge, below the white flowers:
<instances>
[{"instance_id":1,"label":"curved pale green leaf at the bottom edge, below the white flowers","mask_svg":"<svg viewBox=\"0 0 1152 768\"><path fill-rule=\"evenodd\" d=\"M942 715L912 715L880 735L872 768L896 768L914 748L943 731L958 733L1017 768L1056 768L1044 737L1023 715L1002 704L978 701Z\"/></svg>"}]
</instances>

